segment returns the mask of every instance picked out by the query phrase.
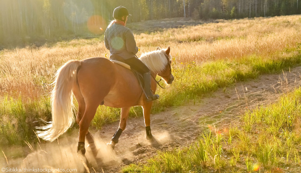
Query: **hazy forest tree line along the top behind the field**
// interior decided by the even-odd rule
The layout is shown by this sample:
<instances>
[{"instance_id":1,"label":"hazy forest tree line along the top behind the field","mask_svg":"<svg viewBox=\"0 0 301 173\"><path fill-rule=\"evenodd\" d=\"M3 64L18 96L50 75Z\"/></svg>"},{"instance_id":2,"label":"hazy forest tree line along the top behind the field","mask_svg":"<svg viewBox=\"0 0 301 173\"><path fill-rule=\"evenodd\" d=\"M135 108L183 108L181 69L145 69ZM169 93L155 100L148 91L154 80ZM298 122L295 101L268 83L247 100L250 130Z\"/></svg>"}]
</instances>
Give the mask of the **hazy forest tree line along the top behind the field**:
<instances>
[{"instance_id":1,"label":"hazy forest tree line along the top behind the field","mask_svg":"<svg viewBox=\"0 0 301 173\"><path fill-rule=\"evenodd\" d=\"M101 34L119 5L130 22L174 17L237 19L300 14L299 0L0 0L0 43Z\"/></svg>"}]
</instances>

